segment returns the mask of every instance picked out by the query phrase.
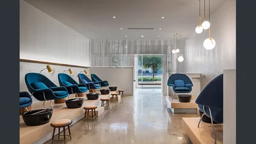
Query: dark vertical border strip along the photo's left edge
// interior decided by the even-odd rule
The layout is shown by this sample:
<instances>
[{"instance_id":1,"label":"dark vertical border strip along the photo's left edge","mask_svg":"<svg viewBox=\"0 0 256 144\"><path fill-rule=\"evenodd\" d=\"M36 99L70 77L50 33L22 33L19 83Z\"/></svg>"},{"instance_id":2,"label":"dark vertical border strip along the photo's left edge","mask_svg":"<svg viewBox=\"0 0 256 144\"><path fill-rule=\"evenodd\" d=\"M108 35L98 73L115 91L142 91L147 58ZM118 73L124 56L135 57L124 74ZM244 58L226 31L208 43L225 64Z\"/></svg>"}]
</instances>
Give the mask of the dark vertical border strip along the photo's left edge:
<instances>
[{"instance_id":1,"label":"dark vertical border strip along the photo's left edge","mask_svg":"<svg viewBox=\"0 0 256 144\"><path fill-rule=\"evenodd\" d=\"M0 4L1 143L19 143L19 3Z\"/></svg>"}]
</instances>

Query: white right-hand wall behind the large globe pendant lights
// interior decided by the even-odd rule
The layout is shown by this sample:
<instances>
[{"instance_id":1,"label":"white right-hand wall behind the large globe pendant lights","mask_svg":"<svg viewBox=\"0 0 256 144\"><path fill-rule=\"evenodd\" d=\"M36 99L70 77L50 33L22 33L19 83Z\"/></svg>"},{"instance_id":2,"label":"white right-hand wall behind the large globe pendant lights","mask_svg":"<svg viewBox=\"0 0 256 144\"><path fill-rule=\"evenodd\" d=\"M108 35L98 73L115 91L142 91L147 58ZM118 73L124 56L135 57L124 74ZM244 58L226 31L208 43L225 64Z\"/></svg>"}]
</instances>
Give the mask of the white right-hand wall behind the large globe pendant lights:
<instances>
[{"instance_id":1,"label":"white right-hand wall behind the large globe pendant lights","mask_svg":"<svg viewBox=\"0 0 256 144\"><path fill-rule=\"evenodd\" d=\"M236 69L235 0L225 0L225 3L211 14L211 37L216 41L216 47L212 50L206 50L203 46L208 37L208 31L204 31L201 34L194 32L187 39L186 72L203 75L201 88L214 77L223 74L224 69Z\"/></svg>"}]
</instances>

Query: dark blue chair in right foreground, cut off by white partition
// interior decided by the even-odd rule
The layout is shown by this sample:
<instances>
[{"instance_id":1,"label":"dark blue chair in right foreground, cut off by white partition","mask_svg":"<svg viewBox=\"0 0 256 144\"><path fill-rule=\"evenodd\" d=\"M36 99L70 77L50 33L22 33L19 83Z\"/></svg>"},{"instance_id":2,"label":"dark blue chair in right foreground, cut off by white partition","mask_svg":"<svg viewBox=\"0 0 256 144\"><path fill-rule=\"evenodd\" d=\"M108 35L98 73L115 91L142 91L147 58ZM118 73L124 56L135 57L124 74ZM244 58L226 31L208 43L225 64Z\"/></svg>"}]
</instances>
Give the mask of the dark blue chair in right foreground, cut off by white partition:
<instances>
[{"instance_id":1,"label":"dark blue chair in right foreground, cut off by white partition","mask_svg":"<svg viewBox=\"0 0 256 144\"><path fill-rule=\"evenodd\" d=\"M223 123L223 74L215 77L205 86L195 100L199 109L204 112L198 123L198 127L204 115L211 118L212 129L214 131L214 139L216 143L216 135L213 121Z\"/></svg>"}]
</instances>

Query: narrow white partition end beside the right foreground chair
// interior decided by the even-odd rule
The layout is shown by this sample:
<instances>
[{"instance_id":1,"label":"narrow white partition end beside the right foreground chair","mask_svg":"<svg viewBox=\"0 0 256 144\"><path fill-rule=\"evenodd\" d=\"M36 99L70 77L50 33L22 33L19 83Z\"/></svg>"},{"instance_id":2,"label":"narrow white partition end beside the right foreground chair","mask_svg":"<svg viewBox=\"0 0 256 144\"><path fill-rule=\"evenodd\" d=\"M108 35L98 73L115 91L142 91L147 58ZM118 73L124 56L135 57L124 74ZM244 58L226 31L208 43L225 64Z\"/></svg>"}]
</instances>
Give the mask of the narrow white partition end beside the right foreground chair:
<instances>
[{"instance_id":1,"label":"narrow white partition end beside the right foreground chair","mask_svg":"<svg viewBox=\"0 0 256 144\"><path fill-rule=\"evenodd\" d=\"M236 70L223 75L223 143L236 143Z\"/></svg>"}]
</instances>

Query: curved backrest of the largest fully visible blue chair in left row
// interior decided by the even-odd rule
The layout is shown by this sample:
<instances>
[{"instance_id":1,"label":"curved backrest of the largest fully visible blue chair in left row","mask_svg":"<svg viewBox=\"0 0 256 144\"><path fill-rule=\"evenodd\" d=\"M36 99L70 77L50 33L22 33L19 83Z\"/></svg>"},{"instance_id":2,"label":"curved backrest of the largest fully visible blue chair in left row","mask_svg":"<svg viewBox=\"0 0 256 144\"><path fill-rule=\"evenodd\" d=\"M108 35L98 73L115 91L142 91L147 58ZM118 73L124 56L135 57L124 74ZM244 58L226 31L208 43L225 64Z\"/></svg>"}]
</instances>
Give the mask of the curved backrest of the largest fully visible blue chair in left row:
<instances>
[{"instance_id":1,"label":"curved backrest of the largest fully visible blue chair in left row","mask_svg":"<svg viewBox=\"0 0 256 144\"><path fill-rule=\"evenodd\" d=\"M50 79L39 73L28 73L25 76L25 82L30 93L36 89L56 87Z\"/></svg>"}]
</instances>

